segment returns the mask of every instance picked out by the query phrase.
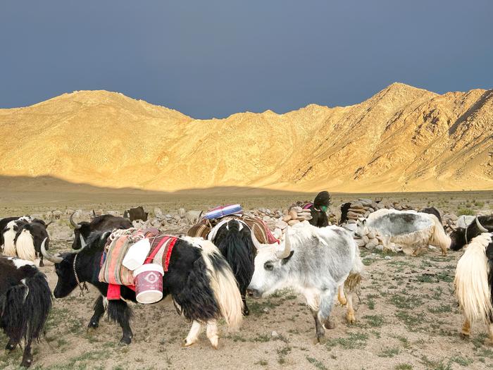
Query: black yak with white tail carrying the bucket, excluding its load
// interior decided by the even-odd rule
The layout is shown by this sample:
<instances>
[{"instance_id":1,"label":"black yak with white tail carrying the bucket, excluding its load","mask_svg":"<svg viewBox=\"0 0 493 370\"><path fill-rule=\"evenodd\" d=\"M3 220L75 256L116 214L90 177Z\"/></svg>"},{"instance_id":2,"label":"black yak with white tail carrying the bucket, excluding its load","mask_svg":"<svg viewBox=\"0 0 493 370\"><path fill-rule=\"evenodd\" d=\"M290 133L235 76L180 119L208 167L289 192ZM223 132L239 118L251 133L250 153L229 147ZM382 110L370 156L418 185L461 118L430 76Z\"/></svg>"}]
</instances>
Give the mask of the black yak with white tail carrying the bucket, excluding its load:
<instances>
[{"instance_id":1,"label":"black yak with white tail carrying the bucket, excluding its load","mask_svg":"<svg viewBox=\"0 0 493 370\"><path fill-rule=\"evenodd\" d=\"M108 284L99 281L101 257L110 232L91 234L84 248L76 252L51 255L44 249L46 259L54 262L58 281L54 290L56 298L66 297L77 285L82 289L86 282L94 285L101 296L94 304L94 315L89 328L97 328L99 319L107 310L108 317L120 324L123 330L121 344L130 344L132 312L125 301L136 302L135 291L121 286L120 300L107 300ZM196 343L201 329L206 326L207 338L218 347L217 321L225 319L231 329L242 322L242 297L235 276L227 261L208 240L201 238L178 239L171 254L168 271L163 278L163 297L171 295L179 314L192 321L185 345Z\"/></svg>"}]
</instances>

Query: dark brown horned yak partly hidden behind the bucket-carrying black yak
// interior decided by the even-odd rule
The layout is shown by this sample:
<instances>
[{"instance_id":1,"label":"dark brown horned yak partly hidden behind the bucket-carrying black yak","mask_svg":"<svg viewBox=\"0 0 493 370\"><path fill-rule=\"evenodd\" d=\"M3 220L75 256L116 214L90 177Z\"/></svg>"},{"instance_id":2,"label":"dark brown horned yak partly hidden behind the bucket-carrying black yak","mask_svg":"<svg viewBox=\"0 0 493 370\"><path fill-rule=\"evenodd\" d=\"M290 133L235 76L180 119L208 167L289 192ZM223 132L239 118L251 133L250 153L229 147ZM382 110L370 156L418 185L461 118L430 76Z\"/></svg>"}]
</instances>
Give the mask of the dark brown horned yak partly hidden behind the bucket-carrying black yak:
<instances>
[{"instance_id":1,"label":"dark brown horned yak partly hidden behind the bucket-carrying black yak","mask_svg":"<svg viewBox=\"0 0 493 370\"><path fill-rule=\"evenodd\" d=\"M75 212L74 212L75 213ZM74 241L72 249L81 249L86 245L86 240L94 231L111 231L116 228L132 228L132 223L127 218L104 214L92 218L91 222L82 221L75 223L73 215L70 215L70 224L74 228Z\"/></svg>"}]
</instances>

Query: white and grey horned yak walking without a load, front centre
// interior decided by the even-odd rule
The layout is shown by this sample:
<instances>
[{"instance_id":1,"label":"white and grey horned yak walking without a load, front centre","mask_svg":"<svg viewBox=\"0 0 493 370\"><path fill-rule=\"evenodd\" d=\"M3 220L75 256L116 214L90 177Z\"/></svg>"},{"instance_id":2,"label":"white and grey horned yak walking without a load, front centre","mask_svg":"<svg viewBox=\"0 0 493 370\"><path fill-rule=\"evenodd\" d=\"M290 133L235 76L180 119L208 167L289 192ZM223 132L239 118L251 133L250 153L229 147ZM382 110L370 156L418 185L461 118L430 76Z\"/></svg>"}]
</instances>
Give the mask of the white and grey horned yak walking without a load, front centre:
<instances>
[{"instance_id":1,"label":"white and grey horned yak walking without a load, front centre","mask_svg":"<svg viewBox=\"0 0 493 370\"><path fill-rule=\"evenodd\" d=\"M363 264L351 233L338 226L317 228L305 221L288 227L280 244L261 244L254 230L251 238L258 249L248 288L251 297L288 287L303 294L315 320L316 343L323 340L324 326L332 325L329 319L338 289L339 302L347 304L347 321L356 321L352 295L361 283Z\"/></svg>"}]
</instances>

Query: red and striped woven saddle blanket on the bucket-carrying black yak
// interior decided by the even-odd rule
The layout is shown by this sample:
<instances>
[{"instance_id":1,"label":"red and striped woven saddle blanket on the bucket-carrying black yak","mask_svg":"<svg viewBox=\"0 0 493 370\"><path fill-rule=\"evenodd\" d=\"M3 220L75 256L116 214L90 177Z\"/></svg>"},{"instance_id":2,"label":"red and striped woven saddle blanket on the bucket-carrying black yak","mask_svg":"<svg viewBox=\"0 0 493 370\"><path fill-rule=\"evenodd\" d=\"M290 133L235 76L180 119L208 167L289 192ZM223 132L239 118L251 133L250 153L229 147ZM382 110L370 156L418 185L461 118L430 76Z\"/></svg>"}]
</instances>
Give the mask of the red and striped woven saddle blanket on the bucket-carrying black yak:
<instances>
[{"instance_id":1,"label":"red and striped woven saddle blanket on the bucket-carrying black yak","mask_svg":"<svg viewBox=\"0 0 493 370\"><path fill-rule=\"evenodd\" d=\"M133 271L123 266L122 262L130 246L143 238L148 238L151 244L144 263L160 264L164 271L168 271L171 252L177 238L170 235L158 235L158 233L157 229L128 229L117 230L111 234L101 260L99 281L113 285L127 285L132 288L135 281Z\"/></svg>"}]
</instances>

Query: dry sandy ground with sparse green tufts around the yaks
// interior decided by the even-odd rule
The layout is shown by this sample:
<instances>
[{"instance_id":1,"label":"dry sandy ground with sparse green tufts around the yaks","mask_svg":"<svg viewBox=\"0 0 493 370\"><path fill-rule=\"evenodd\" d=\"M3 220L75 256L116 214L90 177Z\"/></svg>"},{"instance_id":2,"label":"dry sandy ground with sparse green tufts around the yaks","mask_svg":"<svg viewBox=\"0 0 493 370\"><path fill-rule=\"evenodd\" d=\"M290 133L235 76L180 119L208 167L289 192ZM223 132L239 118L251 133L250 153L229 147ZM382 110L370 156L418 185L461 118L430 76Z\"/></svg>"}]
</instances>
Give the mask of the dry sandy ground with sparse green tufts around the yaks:
<instances>
[{"instance_id":1,"label":"dry sandy ground with sparse green tufts around the yaks","mask_svg":"<svg viewBox=\"0 0 493 370\"><path fill-rule=\"evenodd\" d=\"M55 196L55 195L54 195ZM415 205L436 204L446 211L469 205L489 209L492 192L382 195ZM25 199L30 196L26 195ZM336 202L355 199L337 195ZM374 197L374 195L367 195ZM77 198L77 197L76 197ZM219 204L219 200L189 197L175 202L149 200L146 206L161 206L163 211L187 206ZM244 197L252 206L287 206L289 197ZM26 201L27 202L27 201ZM475 203L479 204L475 206ZM2 203L0 216L35 213L65 206L102 205L104 209L123 209L138 204L137 199L101 202L100 195L87 195L70 202L38 202L29 209L25 202ZM468 208L468 207L466 207ZM72 231L66 216L50 226L52 249L68 249ZM493 369L493 347L482 344L484 326L473 326L470 340L461 340L458 330L461 314L453 295L456 261L461 252L427 251L419 257L403 254L374 254L361 250L366 278L356 298L357 323L344 321L344 307L335 306L332 318L336 328L326 332L327 341L313 344L313 318L303 298L289 290L263 300L249 300L250 316L242 328L228 333L221 325L220 347L213 350L205 333L199 343L182 347L189 323L175 312L169 300L149 306L132 304L134 318L132 344L121 347L121 330L101 320L95 331L87 331L92 316L96 289L79 296L78 290L65 299L54 300L46 325L46 338L35 345L34 369ZM42 268L51 288L56 285L54 266ZM273 333L273 332L276 333ZM273 335L274 334L274 335ZM3 333L0 343L6 344ZM3 344L2 344L3 345ZM0 369L15 369L21 351L0 354Z\"/></svg>"}]
</instances>

